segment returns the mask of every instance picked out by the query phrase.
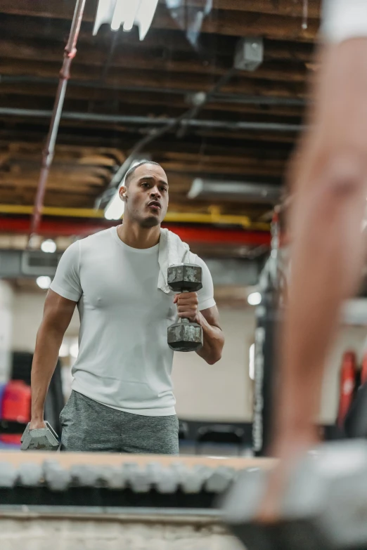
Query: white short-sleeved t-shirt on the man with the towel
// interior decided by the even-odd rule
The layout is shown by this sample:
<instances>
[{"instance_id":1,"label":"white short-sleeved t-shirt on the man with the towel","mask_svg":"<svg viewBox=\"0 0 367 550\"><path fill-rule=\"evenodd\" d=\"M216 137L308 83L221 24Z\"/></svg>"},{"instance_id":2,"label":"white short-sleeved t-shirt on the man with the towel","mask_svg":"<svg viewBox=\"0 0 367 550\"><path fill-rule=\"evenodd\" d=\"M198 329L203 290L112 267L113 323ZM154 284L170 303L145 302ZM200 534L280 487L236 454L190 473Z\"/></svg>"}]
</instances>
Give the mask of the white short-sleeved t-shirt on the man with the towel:
<instances>
[{"instance_id":1,"label":"white short-sleeved t-shirt on the man with the towel","mask_svg":"<svg viewBox=\"0 0 367 550\"><path fill-rule=\"evenodd\" d=\"M158 252L159 244L135 249L116 227L103 230L65 250L50 288L79 310L72 388L114 409L160 417L175 414L167 327L178 316L174 292L157 289ZM202 267L199 309L211 308L210 271L194 254L192 262Z\"/></svg>"}]
</instances>

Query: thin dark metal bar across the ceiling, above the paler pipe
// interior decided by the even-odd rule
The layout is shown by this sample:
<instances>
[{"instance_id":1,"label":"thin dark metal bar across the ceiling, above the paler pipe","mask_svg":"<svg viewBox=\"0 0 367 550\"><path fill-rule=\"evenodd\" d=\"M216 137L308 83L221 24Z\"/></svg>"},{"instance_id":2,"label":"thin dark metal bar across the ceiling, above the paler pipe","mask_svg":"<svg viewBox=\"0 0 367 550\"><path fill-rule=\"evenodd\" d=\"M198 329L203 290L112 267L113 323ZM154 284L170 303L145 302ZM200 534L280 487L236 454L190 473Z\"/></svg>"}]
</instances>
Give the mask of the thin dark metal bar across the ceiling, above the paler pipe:
<instances>
[{"instance_id":1,"label":"thin dark metal bar across the ceiling, above the paler pipe","mask_svg":"<svg viewBox=\"0 0 367 550\"><path fill-rule=\"evenodd\" d=\"M22 75L0 74L0 84L57 84L58 79L31 77ZM69 86L80 88L94 88L114 91L132 91L145 93L164 93L178 96L193 96L202 90L188 91L180 88L159 88L155 86L116 86L99 80L75 80L70 79ZM304 98L283 98L278 96L246 96L241 93L214 93L210 102L215 103L243 103L244 105L283 105L289 107L304 107L307 99Z\"/></svg>"}]
</instances>

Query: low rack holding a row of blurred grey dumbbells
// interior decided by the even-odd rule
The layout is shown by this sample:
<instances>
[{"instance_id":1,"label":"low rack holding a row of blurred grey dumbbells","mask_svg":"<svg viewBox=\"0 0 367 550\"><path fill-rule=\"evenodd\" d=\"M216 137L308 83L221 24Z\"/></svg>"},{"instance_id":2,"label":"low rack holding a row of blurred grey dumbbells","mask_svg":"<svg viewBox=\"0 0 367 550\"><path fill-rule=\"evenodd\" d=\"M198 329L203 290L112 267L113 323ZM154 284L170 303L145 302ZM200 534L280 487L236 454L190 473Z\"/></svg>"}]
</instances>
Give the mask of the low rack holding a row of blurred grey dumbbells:
<instances>
[{"instance_id":1,"label":"low rack holding a row of blurred grey dumbbells","mask_svg":"<svg viewBox=\"0 0 367 550\"><path fill-rule=\"evenodd\" d=\"M1 506L212 509L262 459L0 452Z\"/></svg>"}]
</instances>

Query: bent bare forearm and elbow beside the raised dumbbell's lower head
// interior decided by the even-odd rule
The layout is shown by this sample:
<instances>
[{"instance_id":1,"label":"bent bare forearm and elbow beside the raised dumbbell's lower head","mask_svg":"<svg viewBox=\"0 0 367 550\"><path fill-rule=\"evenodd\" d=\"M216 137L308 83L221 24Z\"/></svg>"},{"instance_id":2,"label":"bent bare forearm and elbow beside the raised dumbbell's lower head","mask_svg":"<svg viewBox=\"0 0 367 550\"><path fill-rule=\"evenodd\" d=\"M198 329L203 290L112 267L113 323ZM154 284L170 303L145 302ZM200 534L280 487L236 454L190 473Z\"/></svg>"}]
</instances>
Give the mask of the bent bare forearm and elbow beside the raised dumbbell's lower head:
<instances>
[{"instance_id":1,"label":"bent bare forearm and elbow beside the raised dumbbell's lower head","mask_svg":"<svg viewBox=\"0 0 367 550\"><path fill-rule=\"evenodd\" d=\"M219 326L217 306L199 311L197 322L202 326L204 346L196 353L209 365L214 365L221 358L224 346L224 334Z\"/></svg>"}]
</instances>

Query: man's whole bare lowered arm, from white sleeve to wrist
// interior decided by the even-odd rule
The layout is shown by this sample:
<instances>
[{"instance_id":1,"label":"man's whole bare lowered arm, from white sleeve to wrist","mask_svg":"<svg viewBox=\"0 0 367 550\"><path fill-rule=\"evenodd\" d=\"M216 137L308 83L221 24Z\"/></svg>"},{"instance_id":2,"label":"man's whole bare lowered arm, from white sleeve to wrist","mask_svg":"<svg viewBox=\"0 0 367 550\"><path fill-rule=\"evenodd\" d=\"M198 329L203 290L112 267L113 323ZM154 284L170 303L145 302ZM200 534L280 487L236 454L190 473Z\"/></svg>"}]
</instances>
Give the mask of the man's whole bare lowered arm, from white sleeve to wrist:
<instances>
[{"instance_id":1,"label":"man's whole bare lowered arm, from white sleeve to wrist","mask_svg":"<svg viewBox=\"0 0 367 550\"><path fill-rule=\"evenodd\" d=\"M63 336L70 325L76 302L49 290L44 304L44 316L37 332L32 362L32 420L30 428L44 427L44 403L49 384L58 362Z\"/></svg>"}]
</instances>

